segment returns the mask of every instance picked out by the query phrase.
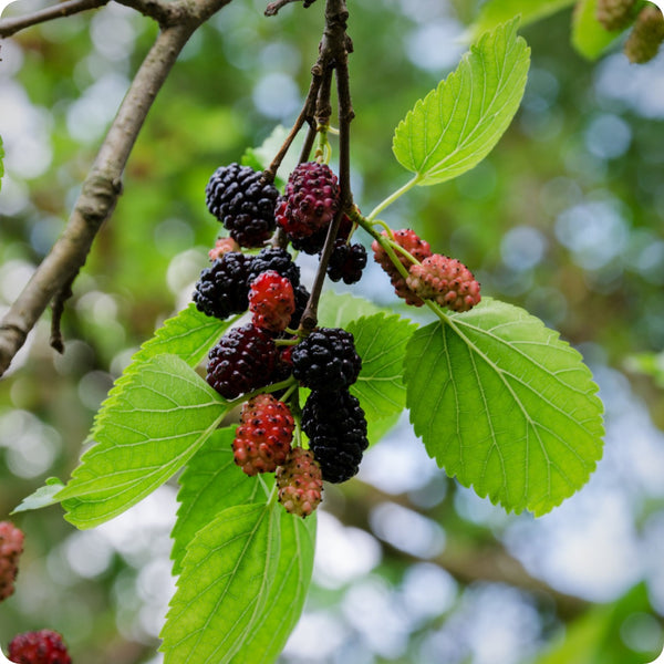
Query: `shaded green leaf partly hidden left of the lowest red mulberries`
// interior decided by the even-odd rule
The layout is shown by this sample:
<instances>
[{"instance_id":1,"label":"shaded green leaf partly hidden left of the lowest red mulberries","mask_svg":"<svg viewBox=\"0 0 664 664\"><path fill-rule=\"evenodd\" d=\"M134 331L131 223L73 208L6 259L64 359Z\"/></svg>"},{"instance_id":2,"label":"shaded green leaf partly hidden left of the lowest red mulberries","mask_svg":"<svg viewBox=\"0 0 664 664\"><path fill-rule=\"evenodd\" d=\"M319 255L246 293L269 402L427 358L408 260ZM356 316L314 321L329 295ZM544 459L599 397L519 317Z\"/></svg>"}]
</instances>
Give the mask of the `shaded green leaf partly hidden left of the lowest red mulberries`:
<instances>
[{"instance_id":1,"label":"shaded green leaf partly hidden left of the lowest red mulberries","mask_svg":"<svg viewBox=\"0 0 664 664\"><path fill-rule=\"evenodd\" d=\"M174 574L181 571L187 544L218 512L266 498L264 483L245 475L235 464L231 448L235 430L235 426L217 429L179 477L180 507L172 532Z\"/></svg>"}]
</instances>

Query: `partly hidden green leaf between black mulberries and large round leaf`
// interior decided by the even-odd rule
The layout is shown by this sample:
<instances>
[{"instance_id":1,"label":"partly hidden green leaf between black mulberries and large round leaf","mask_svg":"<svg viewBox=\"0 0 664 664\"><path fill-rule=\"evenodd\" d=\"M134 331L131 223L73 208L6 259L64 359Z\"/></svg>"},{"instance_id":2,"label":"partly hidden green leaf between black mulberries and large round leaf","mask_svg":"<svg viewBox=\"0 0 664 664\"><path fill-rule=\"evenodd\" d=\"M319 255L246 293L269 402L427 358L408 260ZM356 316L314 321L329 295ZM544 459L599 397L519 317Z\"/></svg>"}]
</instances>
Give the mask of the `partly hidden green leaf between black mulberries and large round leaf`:
<instances>
[{"instance_id":1,"label":"partly hidden green leaf between black mulberries and large round leaf","mask_svg":"<svg viewBox=\"0 0 664 664\"><path fill-rule=\"evenodd\" d=\"M390 417L404 409L403 362L406 344L416 328L398 315L382 313L346 324L362 357L362 371L351 392L360 400L367 419Z\"/></svg>"}]
</instances>

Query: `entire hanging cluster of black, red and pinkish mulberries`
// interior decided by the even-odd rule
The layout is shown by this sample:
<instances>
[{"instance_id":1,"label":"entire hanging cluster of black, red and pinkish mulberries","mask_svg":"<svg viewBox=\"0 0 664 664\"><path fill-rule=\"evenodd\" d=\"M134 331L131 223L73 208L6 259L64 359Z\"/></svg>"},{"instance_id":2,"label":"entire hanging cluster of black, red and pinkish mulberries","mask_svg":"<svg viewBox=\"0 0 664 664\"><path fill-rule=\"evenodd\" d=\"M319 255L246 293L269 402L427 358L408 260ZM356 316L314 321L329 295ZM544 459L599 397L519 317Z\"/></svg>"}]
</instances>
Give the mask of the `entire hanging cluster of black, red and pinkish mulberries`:
<instances>
[{"instance_id":1,"label":"entire hanging cluster of black, red and pinkish mulberries","mask_svg":"<svg viewBox=\"0 0 664 664\"><path fill-rule=\"evenodd\" d=\"M300 324L310 293L289 248L321 253L330 225L341 215L331 238L328 277L357 282L367 256L351 241L354 224L340 210L339 181L329 166L300 164L283 196L276 191L262 174L238 164L215 172L206 203L230 237L210 250L212 264L201 272L194 301L219 319L251 314L250 323L230 329L210 351L206 377L227 400L246 395L232 443L235 463L249 476L274 473L280 502L307 517L321 501L324 480L342 483L357 473L369 440L364 411L350 392L362 369L353 334L317 328L304 335ZM261 247L276 228L274 246L258 253L242 249ZM479 302L479 284L463 263L433 253L413 230L383 236L394 251L376 240L374 259L407 303L419 307L433 300L467 311ZM288 404L294 381L311 391L301 413L297 397L293 412ZM293 444L297 419L309 438L308 449Z\"/></svg>"}]
</instances>

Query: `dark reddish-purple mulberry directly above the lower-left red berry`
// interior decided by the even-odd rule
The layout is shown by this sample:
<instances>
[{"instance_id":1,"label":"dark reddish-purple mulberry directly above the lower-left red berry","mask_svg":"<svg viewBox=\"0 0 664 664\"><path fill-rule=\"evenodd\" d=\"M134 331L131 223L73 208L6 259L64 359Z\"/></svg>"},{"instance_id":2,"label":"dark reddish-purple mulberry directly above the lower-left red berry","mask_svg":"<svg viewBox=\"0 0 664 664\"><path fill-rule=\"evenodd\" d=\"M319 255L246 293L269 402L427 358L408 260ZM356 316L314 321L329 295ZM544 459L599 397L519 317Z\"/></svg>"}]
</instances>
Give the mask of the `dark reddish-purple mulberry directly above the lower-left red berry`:
<instances>
[{"instance_id":1,"label":"dark reddish-purple mulberry directly above the lower-left red berry","mask_svg":"<svg viewBox=\"0 0 664 664\"><path fill-rule=\"evenodd\" d=\"M272 382L277 346L272 335L251 323L232 328L210 351L206 381L225 398Z\"/></svg>"}]
</instances>

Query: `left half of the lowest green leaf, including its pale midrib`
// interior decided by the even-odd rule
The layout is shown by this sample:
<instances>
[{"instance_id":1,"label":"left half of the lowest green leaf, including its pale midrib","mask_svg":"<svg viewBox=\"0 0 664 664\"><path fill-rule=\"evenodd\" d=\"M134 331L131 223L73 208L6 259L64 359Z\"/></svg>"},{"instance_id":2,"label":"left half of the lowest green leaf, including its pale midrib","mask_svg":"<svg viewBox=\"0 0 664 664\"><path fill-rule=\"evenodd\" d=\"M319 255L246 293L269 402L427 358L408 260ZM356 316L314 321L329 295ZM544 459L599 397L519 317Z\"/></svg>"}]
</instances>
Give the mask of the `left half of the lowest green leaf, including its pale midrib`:
<instances>
[{"instance_id":1,"label":"left half of the lowest green leaf, including its pale midrib","mask_svg":"<svg viewBox=\"0 0 664 664\"><path fill-rule=\"evenodd\" d=\"M166 664L227 664L260 619L280 557L278 502L230 507L187 548L162 632Z\"/></svg>"}]
</instances>

